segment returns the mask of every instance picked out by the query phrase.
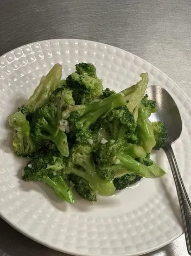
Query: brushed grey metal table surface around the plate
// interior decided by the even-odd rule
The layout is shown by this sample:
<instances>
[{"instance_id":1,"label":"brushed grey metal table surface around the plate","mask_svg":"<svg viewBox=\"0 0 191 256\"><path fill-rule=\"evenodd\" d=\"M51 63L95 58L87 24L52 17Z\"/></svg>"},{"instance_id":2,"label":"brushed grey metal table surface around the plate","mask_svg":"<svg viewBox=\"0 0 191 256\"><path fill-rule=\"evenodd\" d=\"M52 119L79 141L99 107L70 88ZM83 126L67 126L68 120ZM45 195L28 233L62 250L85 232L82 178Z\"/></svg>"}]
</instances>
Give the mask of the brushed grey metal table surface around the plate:
<instances>
[{"instance_id":1,"label":"brushed grey metal table surface around the plate","mask_svg":"<svg viewBox=\"0 0 191 256\"><path fill-rule=\"evenodd\" d=\"M120 47L170 76L191 98L191 0L0 0L0 55L37 40ZM0 256L65 256L0 219ZM184 235L146 256L188 256Z\"/></svg>"}]
</instances>

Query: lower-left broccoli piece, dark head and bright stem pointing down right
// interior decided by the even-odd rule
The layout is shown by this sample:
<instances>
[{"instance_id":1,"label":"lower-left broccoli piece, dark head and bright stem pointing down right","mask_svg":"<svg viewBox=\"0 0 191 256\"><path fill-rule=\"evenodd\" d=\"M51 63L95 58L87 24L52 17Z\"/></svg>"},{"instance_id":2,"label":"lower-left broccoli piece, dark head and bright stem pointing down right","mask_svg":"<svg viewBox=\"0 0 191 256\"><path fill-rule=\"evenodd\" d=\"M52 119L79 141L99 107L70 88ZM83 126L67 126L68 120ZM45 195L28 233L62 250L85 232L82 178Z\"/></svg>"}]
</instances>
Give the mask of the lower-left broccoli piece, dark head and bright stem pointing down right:
<instances>
[{"instance_id":1,"label":"lower-left broccoli piece, dark head and bright stem pointing down right","mask_svg":"<svg viewBox=\"0 0 191 256\"><path fill-rule=\"evenodd\" d=\"M63 169L66 168L66 158L59 153L42 151L35 155L24 168L23 180L26 182L44 182L54 190L61 200L75 203L76 200L72 189L68 186L63 176Z\"/></svg>"}]
</instances>

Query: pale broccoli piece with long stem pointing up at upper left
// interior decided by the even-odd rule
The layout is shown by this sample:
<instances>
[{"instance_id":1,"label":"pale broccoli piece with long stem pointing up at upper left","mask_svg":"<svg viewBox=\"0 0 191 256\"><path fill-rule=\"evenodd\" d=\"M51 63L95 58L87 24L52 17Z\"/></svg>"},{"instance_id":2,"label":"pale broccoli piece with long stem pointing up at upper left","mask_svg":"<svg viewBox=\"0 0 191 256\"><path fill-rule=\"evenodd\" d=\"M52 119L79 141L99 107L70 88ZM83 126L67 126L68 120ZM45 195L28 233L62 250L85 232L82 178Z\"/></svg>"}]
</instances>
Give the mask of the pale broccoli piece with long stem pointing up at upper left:
<instances>
[{"instance_id":1,"label":"pale broccoli piece with long stem pointing up at upper left","mask_svg":"<svg viewBox=\"0 0 191 256\"><path fill-rule=\"evenodd\" d=\"M43 76L38 87L34 90L31 97L19 108L24 115L31 115L32 112L44 105L51 95L51 93L61 86L62 66L55 64L49 73Z\"/></svg>"}]
</instances>

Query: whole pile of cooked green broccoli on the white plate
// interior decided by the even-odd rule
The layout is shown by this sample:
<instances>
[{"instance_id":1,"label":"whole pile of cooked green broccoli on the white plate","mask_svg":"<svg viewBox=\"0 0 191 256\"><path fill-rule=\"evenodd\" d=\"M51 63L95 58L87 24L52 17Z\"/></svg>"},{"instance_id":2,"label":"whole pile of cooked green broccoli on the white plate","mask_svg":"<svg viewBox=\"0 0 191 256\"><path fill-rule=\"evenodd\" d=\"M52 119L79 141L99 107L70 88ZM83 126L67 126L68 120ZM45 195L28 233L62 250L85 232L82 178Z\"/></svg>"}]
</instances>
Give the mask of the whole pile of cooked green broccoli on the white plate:
<instances>
[{"instance_id":1,"label":"whole pile of cooked green broccoli on the white plate","mask_svg":"<svg viewBox=\"0 0 191 256\"><path fill-rule=\"evenodd\" d=\"M42 77L32 96L8 117L13 147L19 156L31 156L25 181L44 182L61 200L75 203L69 184L84 199L113 195L139 181L165 174L150 159L164 148L164 123L151 122L156 102L145 95L148 74L116 93L103 89L91 63L61 80L55 64Z\"/></svg>"}]
</instances>

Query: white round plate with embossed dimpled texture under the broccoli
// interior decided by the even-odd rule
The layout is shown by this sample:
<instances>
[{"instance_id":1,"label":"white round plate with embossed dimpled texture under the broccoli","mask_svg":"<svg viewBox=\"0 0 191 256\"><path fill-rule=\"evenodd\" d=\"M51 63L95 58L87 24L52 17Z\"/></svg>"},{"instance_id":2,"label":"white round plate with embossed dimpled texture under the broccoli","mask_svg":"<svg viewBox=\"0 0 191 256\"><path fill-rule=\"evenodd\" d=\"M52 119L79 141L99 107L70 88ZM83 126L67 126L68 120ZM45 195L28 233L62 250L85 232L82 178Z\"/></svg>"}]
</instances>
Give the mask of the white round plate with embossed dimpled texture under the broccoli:
<instances>
[{"instance_id":1,"label":"white round plate with embossed dimpled texture under the broccoli","mask_svg":"<svg viewBox=\"0 0 191 256\"><path fill-rule=\"evenodd\" d=\"M120 91L148 72L149 85L159 84L180 110L183 131L173 145L191 196L191 101L165 74L148 62L116 47L86 40L45 40L19 47L0 57L0 215L38 243L66 253L86 256L133 256L158 249L182 234L178 201L164 152L155 159L167 175L142 179L138 186L92 204L61 202L51 189L24 182L25 160L13 155L6 117L32 94L40 77L54 63L66 78L78 62L93 62L104 87Z\"/></svg>"}]
</instances>

